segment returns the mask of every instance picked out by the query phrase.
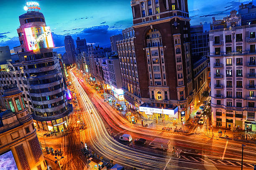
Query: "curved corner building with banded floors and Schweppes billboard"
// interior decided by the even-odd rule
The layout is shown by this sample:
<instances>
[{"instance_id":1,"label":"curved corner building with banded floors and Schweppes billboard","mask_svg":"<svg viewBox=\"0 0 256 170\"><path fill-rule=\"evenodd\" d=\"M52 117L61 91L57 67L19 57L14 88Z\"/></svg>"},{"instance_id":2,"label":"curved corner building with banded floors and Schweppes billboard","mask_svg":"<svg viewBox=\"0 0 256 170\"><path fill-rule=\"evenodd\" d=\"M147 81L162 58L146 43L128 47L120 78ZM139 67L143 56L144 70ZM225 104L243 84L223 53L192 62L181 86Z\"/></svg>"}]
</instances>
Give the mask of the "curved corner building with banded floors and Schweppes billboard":
<instances>
[{"instance_id":1,"label":"curved corner building with banded floors and Schweppes billboard","mask_svg":"<svg viewBox=\"0 0 256 170\"><path fill-rule=\"evenodd\" d=\"M52 52L51 30L38 11L20 15L19 21L17 32L22 52L13 67L26 78L34 124L59 132L68 126L72 105L67 103L59 60Z\"/></svg>"}]
</instances>

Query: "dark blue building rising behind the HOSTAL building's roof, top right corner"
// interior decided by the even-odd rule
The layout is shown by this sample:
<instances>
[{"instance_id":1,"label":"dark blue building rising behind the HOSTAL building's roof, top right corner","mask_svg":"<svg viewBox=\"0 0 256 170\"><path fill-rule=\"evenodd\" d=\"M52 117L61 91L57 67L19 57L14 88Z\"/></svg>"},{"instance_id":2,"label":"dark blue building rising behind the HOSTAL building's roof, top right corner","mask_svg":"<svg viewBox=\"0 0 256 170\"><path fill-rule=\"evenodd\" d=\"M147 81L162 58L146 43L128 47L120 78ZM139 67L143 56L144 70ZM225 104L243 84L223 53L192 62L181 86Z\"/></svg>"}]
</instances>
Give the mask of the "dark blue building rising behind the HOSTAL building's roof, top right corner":
<instances>
[{"instance_id":1,"label":"dark blue building rising behind the HOSTAL building's roof, top right corner","mask_svg":"<svg viewBox=\"0 0 256 170\"><path fill-rule=\"evenodd\" d=\"M241 15L242 25L256 24L256 7L252 2L239 5L238 14Z\"/></svg>"}]
</instances>

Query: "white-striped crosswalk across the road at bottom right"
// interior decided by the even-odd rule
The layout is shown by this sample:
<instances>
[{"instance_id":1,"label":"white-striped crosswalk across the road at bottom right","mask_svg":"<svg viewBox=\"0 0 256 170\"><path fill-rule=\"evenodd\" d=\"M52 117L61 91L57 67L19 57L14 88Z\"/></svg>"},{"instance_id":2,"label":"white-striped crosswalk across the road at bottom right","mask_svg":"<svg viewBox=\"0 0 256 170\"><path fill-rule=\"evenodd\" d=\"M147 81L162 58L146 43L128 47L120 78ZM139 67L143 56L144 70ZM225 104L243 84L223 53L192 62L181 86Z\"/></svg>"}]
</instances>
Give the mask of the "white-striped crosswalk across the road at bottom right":
<instances>
[{"instance_id":1,"label":"white-striped crosswalk across the road at bottom right","mask_svg":"<svg viewBox=\"0 0 256 170\"><path fill-rule=\"evenodd\" d=\"M200 157L192 157L192 156L184 156L181 155L180 160L186 160L191 162L201 162L201 163L213 163L218 165L225 165L225 166L238 166L241 167L240 162L231 161L231 160L218 160L218 159L211 159L211 158L200 158ZM243 167L245 168L253 168L254 165L252 163L243 163Z\"/></svg>"}]
</instances>

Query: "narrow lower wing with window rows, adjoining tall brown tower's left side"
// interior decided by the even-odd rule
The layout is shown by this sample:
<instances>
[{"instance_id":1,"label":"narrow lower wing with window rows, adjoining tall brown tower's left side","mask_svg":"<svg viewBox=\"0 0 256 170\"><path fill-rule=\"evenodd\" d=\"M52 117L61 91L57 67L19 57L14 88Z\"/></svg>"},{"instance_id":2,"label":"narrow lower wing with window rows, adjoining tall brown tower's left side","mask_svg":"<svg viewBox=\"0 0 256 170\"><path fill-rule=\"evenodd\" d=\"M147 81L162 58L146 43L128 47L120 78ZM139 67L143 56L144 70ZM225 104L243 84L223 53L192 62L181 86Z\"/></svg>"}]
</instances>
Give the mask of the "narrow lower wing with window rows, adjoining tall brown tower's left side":
<instances>
[{"instance_id":1,"label":"narrow lower wing with window rows, adjoining tall brown tower's left side","mask_svg":"<svg viewBox=\"0 0 256 170\"><path fill-rule=\"evenodd\" d=\"M142 104L138 78L137 56L135 55L135 34L133 27L122 31L123 40L116 42L124 91L124 98L134 109ZM129 85L129 86L125 86ZM130 87L133 87L130 89ZM128 89L129 88L129 89Z\"/></svg>"}]
</instances>

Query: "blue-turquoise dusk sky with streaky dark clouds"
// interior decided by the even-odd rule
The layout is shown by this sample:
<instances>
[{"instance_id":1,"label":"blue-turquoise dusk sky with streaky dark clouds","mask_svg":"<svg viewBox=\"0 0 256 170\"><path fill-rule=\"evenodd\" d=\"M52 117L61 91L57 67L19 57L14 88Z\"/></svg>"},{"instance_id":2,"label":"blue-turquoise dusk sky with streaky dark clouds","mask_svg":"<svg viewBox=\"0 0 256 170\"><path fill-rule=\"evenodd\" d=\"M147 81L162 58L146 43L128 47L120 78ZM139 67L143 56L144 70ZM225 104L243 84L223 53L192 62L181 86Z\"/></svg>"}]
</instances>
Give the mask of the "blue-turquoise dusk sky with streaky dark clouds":
<instances>
[{"instance_id":1,"label":"blue-turquoise dusk sky with streaky dark clouds","mask_svg":"<svg viewBox=\"0 0 256 170\"><path fill-rule=\"evenodd\" d=\"M87 43L109 46L111 35L132 25L130 0L38 0L40 12L53 33L55 47L64 46L64 36L86 38ZM191 25L210 23L212 16L222 19L230 10L238 10L238 0L188 0ZM240 0L240 3L251 2ZM25 0L1 0L0 46L19 45L16 29L18 16L25 13ZM63 53L61 47L59 52Z\"/></svg>"}]
</instances>

